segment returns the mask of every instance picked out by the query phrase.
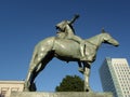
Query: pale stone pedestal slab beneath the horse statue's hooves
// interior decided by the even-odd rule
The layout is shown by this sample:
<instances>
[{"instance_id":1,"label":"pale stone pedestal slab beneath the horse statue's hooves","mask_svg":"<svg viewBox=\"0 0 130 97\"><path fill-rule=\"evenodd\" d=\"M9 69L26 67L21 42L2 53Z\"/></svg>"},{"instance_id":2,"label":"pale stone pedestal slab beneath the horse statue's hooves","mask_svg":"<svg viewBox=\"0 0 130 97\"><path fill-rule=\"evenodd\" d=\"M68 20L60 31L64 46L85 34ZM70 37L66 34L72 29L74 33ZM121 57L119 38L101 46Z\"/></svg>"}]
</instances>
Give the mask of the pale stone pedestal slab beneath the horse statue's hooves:
<instances>
[{"instance_id":1,"label":"pale stone pedestal slab beneath the horse statue's hooves","mask_svg":"<svg viewBox=\"0 0 130 97\"><path fill-rule=\"evenodd\" d=\"M86 92L13 92L11 97L113 97L113 94Z\"/></svg>"}]
</instances>

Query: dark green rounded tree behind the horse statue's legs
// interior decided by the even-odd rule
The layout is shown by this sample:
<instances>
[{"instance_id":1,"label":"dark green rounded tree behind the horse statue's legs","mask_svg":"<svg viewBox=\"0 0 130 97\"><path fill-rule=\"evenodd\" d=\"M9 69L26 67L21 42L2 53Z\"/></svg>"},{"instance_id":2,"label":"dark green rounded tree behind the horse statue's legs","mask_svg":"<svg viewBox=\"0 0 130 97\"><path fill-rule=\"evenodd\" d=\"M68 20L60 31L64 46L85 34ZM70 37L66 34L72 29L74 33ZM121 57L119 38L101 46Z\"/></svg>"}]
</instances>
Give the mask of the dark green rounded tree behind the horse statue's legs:
<instances>
[{"instance_id":1,"label":"dark green rounded tree behind the horse statue's legs","mask_svg":"<svg viewBox=\"0 0 130 97\"><path fill-rule=\"evenodd\" d=\"M83 92L83 80L78 75L66 75L60 86L55 87L56 92Z\"/></svg>"}]
</instances>

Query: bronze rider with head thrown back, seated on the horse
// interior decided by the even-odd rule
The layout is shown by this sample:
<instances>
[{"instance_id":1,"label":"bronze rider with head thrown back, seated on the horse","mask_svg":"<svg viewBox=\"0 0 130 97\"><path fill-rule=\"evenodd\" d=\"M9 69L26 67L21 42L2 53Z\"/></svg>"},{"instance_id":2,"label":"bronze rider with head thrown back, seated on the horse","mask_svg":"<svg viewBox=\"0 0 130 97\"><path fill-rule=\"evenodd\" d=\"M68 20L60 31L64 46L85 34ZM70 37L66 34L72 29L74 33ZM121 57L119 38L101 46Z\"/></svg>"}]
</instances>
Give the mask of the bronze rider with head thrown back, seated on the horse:
<instances>
[{"instance_id":1,"label":"bronze rider with head thrown back, seated on the horse","mask_svg":"<svg viewBox=\"0 0 130 97\"><path fill-rule=\"evenodd\" d=\"M81 53L81 58L80 60L86 60L84 56L84 41L75 34L75 30L73 28L73 23L79 17L79 15L75 15L75 17L69 22L69 20L63 20L62 23L56 25L56 28L60 29L57 32L58 38L63 39L68 39L68 40L74 40L80 44L80 53Z\"/></svg>"}]
</instances>

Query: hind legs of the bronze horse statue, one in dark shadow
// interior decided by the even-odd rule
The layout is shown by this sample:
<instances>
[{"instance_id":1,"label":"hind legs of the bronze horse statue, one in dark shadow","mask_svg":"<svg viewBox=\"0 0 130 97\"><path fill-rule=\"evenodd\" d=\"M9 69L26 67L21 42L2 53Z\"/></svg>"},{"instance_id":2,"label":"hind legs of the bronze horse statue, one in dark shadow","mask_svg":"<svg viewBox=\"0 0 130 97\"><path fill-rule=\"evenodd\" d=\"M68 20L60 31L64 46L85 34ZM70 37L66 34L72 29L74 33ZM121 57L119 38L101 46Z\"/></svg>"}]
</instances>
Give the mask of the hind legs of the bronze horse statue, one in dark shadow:
<instances>
[{"instance_id":1,"label":"hind legs of the bronze horse statue, one in dark shadow","mask_svg":"<svg viewBox=\"0 0 130 97\"><path fill-rule=\"evenodd\" d=\"M49 63L50 58L49 52L51 52L50 48L46 48L44 51L38 51L35 53L35 57L32 58L30 63L30 67L28 70L28 74L25 81L25 91L32 91L31 85L34 84L34 81L38 73L43 70L46 65ZM49 59L50 58L50 59Z\"/></svg>"}]
</instances>

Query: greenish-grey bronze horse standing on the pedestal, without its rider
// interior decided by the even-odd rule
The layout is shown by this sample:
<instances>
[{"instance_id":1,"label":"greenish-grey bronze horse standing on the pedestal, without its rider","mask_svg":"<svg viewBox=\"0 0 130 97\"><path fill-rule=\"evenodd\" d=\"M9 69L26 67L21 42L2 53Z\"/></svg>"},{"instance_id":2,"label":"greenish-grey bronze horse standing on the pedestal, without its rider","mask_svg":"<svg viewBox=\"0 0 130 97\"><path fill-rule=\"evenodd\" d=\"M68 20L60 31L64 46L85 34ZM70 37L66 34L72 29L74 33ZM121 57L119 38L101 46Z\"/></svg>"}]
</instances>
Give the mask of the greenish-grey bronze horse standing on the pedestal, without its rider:
<instances>
[{"instance_id":1,"label":"greenish-grey bronze horse standing on the pedestal, without its rider","mask_svg":"<svg viewBox=\"0 0 130 97\"><path fill-rule=\"evenodd\" d=\"M67 25L67 24L66 24ZM67 25L68 26L68 25ZM62 33L62 36L65 36ZM118 42L109 33L102 33L90 39L82 40L84 43L86 60L81 60L80 44L72 39L50 37L40 41L36 46L30 61L27 78L25 80L25 91L34 91L32 85L36 77L44 69L48 63L56 57L64 61L77 61L80 72L84 75L84 91L90 92L89 77L91 64L95 60L96 51L102 43L118 46Z\"/></svg>"}]
</instances>

